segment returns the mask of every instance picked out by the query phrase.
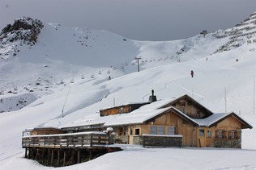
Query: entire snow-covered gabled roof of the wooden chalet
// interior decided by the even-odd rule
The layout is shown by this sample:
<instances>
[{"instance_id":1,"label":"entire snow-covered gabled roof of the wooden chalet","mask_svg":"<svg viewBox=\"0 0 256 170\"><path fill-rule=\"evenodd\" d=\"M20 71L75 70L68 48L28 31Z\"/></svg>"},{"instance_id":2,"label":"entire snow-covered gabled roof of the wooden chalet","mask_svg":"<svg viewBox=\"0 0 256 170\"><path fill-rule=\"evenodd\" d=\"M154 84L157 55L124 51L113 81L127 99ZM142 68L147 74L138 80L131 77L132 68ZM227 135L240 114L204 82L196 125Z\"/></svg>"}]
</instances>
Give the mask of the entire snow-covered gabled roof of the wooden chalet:
<instances>
[{"instance_id":1,"label":"entire snow-covered gabled roof of the wooden chalet","mask_svg":"<svg viewBox=\"0 0 256 170\"><path fill-rule=\"evenodd\" d=\"M182 98L186 98L191 102L192 105L196 105L197 108L204 110L207 112L206 118L190 118L188 115L182 113L180 110L177 110L172 105ZM229 114L213 114L211 111L207 110L201 104L196 102L193 98L189 97L188 95L184 95L178 98L169 98L164 99L156 102L151 102L148 105L141 106L139 109L134 110L127 114L114 114L105 117L95 116L92 118L85 117L78 121L72 122L62 128L67 127L79 127L79 126L122 126L122 125L130 125L130 124L142 124L147 122L152 122L154 119L159 118L160 116L172 112L176 114L178 117L186 120L187 122L192 123L194 126L215 126L218 122L224 120L228 116L233 116L237 118L239 122L243 125L243 128L252 128L249 123L245 122L242 118L240 118L237 114L229 113Z\"/></svg>"}]
</instances>

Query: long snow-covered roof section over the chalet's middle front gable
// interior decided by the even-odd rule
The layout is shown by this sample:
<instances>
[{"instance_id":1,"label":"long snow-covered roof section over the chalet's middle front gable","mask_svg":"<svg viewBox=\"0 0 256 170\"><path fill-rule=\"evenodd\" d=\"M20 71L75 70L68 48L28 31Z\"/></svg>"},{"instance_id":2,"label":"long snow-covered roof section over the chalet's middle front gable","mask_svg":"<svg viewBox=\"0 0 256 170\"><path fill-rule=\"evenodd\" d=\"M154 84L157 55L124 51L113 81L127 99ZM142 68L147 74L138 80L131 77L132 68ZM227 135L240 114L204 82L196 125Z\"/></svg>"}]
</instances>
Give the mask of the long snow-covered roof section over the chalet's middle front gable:
<instances>
[{"instance_id":1,"label":"long snow-covered roof section over the chalet's middle front gable","mask_svg":"<svg viewBox=\"0 0 256 170\"><path fill-rule=\"evenodd\" d=\"M198 126L198 123L195 122L192 118L182 113L180 110L177 110L173 106L160 108L167 103L173 101L173 98L160 100L157 102L152 102L151 104L141 106L139 109L134 110L127 114L114 114L105 117L88 117L83 118L78 121L72 122L62 128L67 127L77 127L77 126L120 126L120 125L129 125L129 124L142 124L146 122L151 122L155 118L159 118L161 115L172 111L174 114L177 114L180 118L191 122L194 126Z\"/></svg>"}]
</instances>

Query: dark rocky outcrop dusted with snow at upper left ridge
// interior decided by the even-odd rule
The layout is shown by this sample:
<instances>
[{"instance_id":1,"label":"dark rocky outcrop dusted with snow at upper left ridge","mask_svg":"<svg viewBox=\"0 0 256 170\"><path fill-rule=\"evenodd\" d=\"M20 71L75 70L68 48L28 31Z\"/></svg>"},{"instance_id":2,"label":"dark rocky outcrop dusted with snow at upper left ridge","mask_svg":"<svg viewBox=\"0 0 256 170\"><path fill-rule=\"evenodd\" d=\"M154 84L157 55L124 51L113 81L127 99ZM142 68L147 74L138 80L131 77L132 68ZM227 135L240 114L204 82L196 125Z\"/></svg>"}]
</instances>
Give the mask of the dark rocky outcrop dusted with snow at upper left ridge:
<instances>
[{"instance_id":1,"label":"dark rocky outcrop dusted with snow at upper left ridge","mask_svg":"<svg viewBox=\"0 0 256 170\"><path fill-rule=\"evenodd\" d=\"M36 44L36 39L44 27L38 19L23 17L15 19L15 23L8 24L0 33L0 42L2 44L12 43L17 40L23 41L23 44Z\"/></svg>"}]
</instances>

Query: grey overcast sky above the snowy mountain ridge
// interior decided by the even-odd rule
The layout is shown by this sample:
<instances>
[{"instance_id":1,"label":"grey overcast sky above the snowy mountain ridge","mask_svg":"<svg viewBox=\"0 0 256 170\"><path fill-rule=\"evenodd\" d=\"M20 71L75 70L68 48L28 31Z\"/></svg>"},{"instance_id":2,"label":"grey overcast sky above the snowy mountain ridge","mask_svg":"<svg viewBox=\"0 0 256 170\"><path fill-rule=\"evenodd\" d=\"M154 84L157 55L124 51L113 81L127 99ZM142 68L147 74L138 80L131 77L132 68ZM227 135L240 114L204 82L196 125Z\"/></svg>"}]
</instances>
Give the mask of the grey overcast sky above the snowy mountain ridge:
<instances>
[{"instance_id":1,"label":"grey overcast sky above the snowy mountain ridge","mask_svg":"<svg viewBox=\"0 0 256 170\"><path fill-rule=\"evenodd\" d=\"M184 39L233 27L256 0L0 0L0 29L20 16L107 30L128 39Z\"/></svg>"}]
</instances>

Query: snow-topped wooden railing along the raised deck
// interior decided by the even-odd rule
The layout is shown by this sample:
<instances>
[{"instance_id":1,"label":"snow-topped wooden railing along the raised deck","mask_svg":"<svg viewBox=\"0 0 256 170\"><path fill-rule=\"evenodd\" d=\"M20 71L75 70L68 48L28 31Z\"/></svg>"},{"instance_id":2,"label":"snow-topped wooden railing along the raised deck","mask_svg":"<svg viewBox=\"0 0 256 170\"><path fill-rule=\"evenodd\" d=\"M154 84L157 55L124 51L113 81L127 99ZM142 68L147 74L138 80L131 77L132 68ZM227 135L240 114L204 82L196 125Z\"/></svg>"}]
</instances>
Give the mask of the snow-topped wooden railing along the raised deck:
<instances>
[{"instance_id":1,"label":"snow-topped wooden railing along the raised deck","mask_svg":"<svg viewBox=\"0 0 256 170\"><path fill-rule=\"evenodd\" d=\"M109 136L100 131L29 135L22 138L22 147L104 147L108 144Z\"/></svg>"}]
</instances>

